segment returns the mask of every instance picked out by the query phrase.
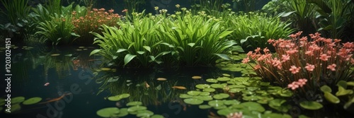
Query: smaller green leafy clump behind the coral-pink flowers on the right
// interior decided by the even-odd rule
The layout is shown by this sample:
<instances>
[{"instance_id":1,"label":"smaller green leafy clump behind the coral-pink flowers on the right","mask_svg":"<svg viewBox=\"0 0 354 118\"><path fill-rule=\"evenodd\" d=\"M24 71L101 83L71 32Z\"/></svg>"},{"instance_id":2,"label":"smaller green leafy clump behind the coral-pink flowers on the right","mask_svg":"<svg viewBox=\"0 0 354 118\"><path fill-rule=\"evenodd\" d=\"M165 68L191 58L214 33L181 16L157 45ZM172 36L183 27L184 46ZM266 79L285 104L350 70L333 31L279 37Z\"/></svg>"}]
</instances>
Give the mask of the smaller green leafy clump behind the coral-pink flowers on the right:
<instances>
[{"instance_id":1,"label":"smaller green leafy clump behind the coral-pink flowers on the right","mask_svg":"<svg viewBox=\"0 0 354 118\"><path fill-rule=\"evenodd\" d=\"M225 25L235 29L230 35L244 49L268 47L269 39L279 39L289 36L295 30L290 23L282 22L280 18L268 17L265 13L245 13L231 16ZM250 48L251 47L251 48Z\"/></svg>"}]
</instances>

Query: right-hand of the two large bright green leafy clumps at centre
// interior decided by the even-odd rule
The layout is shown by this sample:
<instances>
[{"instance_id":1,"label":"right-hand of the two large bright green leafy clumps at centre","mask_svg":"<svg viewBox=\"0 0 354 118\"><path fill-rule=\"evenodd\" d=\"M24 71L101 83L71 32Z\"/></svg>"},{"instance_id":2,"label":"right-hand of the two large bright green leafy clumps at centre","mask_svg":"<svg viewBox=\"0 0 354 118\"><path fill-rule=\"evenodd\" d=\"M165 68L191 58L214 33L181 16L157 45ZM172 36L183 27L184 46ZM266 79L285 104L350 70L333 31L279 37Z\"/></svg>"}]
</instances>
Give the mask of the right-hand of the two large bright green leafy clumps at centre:
<instances>
[{"instance_id":1,"label":"right-hand of the two large bright green leafy clumps at centre","mask_svg":"<svg viewBox=\"0 0 354 118\"><path fill-rule=\"evenodd\" d=\"M182 8L181 8L182 9ZM177 60L185 66L207 66L215 64L219 57L228 59L225 52L236 45L226 37L232 30L222 27L221 21L207 18L205 14L194 16L182 9L183 16L176 13L173 20L164 20L160 32L166 46L173 47Z\"/></svg>"}]
</instances>

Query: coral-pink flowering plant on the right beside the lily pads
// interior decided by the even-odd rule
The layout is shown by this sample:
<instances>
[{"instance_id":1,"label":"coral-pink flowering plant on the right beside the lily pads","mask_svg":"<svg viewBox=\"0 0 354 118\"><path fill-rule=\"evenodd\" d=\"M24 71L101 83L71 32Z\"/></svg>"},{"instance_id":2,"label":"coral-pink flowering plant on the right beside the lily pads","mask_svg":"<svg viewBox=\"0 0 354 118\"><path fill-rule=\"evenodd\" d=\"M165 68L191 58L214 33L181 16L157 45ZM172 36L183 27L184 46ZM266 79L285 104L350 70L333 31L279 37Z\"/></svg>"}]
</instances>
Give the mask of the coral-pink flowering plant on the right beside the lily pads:
<instances>
[{"instance_id":1,"label":"coral-pink flowering plant on the right beside the lily pads","mask_svg":"<svg viewBox=\"0 0 354 118\"><path fill-rule=\"evenodd\" d=\"M263 52L257 48L242 62L255 61L253 69L264 81L283 87L291 83L289 88L300 87L297 91L303 93L316 90L320 84L333 88L338 81L353 81L354 71L350 70L354 65L353 42L341 45L341 40L326 39L319 33L309 35L311 40L308 41L307 37L299 37L301 33L290 35L290 40L268 40L275 47L275 54L268 48ZM326 83L329 81L331 83Z\"/></svg>"}]
</instances>

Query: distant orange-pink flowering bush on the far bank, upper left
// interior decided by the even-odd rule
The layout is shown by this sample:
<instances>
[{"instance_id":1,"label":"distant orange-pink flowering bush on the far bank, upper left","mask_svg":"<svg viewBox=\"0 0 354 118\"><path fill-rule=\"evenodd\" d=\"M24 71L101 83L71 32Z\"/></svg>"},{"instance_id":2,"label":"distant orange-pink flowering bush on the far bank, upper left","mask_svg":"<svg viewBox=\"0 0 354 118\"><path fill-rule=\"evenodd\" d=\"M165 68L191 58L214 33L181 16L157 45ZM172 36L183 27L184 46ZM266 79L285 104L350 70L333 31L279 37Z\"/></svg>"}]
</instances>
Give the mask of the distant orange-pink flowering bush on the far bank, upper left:
<instances>
[{"instance_id":1,"label":"distant orange-pink flowering bush on the far bank, upper left","mask_svg":"<svg viewBox=\"0 0 354 118\"><path fill-rule=\"evenodd\" d=\"M94 35L90 32L101 33L99 28L103 24L116 26L120 16L118 13L113 13L113 11L113 9L110 9L107 12L105 8L93 8L92 11L87 11L86 8L76 6L75 11L72 11L74 33L80 35L80 37L76 39L76 43L79 45L91 45Z\"/></svg>"}]
</instances>

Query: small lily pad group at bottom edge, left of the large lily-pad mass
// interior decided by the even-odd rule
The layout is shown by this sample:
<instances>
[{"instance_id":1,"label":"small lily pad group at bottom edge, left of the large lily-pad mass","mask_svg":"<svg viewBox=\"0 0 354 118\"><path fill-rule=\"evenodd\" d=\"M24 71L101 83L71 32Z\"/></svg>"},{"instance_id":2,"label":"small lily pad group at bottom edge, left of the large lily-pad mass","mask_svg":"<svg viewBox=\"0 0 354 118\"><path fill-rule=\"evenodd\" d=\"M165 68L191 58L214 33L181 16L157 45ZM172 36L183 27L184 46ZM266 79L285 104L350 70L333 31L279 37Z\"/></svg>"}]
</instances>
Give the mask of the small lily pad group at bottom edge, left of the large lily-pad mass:
<instances>
[{"instance_id":1,"label":"small lily pad group at bottom edge, left of the large lily-pad mass","mask_svg":"<svg viewBox=\"0 0 354 118\"><path fill-rule=\"evenodd\" d=\"M129 98L130 94L123 93L120 95L110 96L107 99L110 101L117 102L124 98ZM132 101L127 102L127 107L118 108L118 107L106 107L101 110L98 110L96 114L100 117L126 117L127 115L136 115L136 117L145 117L145 118L163 118L161 114L154 114L154 112L147 110L147 107L142 105L142 102Z\"/></svg>"}]
</instances>

